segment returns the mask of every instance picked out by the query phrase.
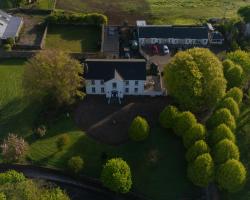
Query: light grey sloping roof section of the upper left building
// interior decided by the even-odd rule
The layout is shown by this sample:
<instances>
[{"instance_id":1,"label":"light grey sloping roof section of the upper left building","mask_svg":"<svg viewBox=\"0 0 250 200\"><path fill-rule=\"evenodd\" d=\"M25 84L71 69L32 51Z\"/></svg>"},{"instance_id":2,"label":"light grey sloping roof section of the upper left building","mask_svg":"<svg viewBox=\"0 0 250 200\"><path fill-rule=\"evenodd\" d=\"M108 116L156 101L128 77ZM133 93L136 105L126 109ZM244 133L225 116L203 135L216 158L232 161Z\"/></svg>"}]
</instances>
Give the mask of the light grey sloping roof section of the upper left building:
<instances>
[{"instance_id":1,"label":"light grey sloping roof section of the upper left building","mask_svg":"<svg viewBox=\"0 0 250 200\"><path fill-rule=\"evenodd\" d=\"M20 17L11 17L10 21L8 22L8 25L6 27L6 30L3 34L3 38L10 38L10 37L16 37L18 34L18 31L20 30L20 26L22 25L22 18Z\"/></svg>"}]
</instances>

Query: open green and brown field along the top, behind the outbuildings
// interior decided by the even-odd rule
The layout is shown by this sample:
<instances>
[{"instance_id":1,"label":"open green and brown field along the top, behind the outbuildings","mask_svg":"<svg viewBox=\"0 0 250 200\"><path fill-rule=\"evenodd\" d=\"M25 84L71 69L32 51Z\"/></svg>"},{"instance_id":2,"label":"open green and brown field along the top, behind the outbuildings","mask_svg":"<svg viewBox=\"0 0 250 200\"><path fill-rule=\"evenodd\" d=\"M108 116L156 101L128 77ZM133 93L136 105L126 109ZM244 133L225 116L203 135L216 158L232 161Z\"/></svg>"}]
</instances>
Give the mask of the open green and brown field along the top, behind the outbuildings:
<instances>
[{"instance_id":1,"label":"open green and brown field along the top, behind the outbuildings","mask_svg":"<svg viewBox=\"0 0 250 200\"><path fill-rule=\"evenodd\" d=\"M58 0L57 8L80 12L102 12L111 24L124 20L134 23L146 19L150 23L193 24L215 17L236 17L241 6L250 0Z\"/></svg>"}]
</instances>

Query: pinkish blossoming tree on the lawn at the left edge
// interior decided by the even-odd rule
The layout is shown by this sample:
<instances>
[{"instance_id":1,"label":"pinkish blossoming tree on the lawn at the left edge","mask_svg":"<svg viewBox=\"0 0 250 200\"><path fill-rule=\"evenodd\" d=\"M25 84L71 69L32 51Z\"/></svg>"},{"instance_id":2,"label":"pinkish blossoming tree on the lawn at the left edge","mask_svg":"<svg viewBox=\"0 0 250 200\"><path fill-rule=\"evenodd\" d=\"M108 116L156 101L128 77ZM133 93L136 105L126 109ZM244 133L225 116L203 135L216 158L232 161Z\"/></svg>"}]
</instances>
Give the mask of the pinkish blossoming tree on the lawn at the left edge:
<instances>
[{"instance_id":1,"label":"pinkish blossoming tree on the lawn at the left edge","mask_svg":"<svg viewBox=\"0 0 250 200\"><path fill-rule=\"evenodd\" d=\"M22 161L28 151L28 143L23 138L18 138L15 134L9 134L4 139L2 148L3 161L7 163Z\"/></svg>"}]
</instances>

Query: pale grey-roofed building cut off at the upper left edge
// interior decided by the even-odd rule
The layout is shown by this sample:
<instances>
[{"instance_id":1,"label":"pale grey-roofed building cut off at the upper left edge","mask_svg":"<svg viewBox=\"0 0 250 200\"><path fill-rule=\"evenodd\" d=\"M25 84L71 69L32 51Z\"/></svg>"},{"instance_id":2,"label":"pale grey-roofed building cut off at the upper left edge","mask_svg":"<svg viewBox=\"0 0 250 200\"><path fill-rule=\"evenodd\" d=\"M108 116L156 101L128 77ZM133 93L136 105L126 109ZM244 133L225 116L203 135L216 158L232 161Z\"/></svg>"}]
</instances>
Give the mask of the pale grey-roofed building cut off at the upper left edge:
<instances>
[{"instance_id":1,"label":"pale grey-roofed building cut off at the upper left edge","mask_svg":"<svg viewBox=\"0 0 250 200\"><path fill-rule=\"evenodd\" d=\"M19 36L23 20L21 17L15 17L0 10L0 44L2 40L8 38L16 39Z\"/></svg>"}]
</instances>

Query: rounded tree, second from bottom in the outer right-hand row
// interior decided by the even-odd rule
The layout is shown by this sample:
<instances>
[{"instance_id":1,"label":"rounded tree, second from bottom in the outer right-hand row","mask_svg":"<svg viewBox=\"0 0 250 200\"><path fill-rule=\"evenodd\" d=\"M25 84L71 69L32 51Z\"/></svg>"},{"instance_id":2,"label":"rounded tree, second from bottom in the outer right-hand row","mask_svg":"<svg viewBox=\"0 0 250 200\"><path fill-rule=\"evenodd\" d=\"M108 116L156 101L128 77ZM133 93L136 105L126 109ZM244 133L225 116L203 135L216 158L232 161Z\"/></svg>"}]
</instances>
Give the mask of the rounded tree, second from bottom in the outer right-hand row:
<instances>
[{"instance_id":1,"label":"rounded tree, second from bottom in the outer right-hand row","mask_svg":"<svg viewBox=\"0 0 250 200\"><path fill-rule=\"evenodd\" d=\"M214 162L222 164L229 159L239 160L240 152L238 147L230 140L224 139L218 142L212 149Z\"/></svg>"}]
</instances>

